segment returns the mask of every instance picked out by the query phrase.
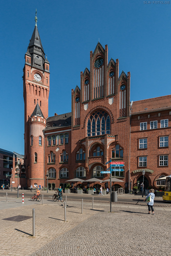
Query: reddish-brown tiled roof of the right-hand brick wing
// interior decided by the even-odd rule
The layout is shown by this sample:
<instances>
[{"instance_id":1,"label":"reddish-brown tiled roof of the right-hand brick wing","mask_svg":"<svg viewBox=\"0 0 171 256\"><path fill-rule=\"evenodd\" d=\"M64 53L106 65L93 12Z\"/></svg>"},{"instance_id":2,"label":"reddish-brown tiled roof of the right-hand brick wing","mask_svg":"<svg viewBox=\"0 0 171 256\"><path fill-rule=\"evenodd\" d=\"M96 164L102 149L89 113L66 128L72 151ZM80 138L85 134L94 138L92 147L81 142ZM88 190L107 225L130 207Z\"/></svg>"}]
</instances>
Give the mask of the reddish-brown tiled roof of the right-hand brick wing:
<instances>
[{"instance_id":1,"label":"reddish-brown tiled roof of the right-hand brick wing","mask_svg":"<svg viewBox=\"0 0 171 256\"><path fill-rule=\"evenodd\" d=\"M145 110L146 109L146 110ZM171 109L171 95L134 101L131 114Z\"/></svg>"}]
</instances>

